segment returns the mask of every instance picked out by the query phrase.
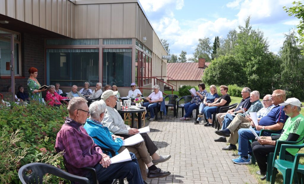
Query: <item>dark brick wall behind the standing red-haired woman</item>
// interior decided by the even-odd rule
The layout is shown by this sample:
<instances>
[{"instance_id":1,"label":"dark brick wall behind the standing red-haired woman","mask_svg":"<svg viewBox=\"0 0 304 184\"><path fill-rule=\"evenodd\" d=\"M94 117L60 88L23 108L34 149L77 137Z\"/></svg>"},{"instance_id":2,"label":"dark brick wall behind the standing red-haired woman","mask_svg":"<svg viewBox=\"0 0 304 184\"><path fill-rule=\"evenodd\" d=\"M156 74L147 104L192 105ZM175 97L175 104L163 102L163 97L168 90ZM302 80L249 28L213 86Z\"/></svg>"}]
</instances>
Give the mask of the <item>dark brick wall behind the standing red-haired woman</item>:
<instances>
[{"instance_id":1,"label":"dark brick wall behind the standing red-haired woman","mask_svg":"<svg viewBox=\"0 0 304 184\"><path fill-rule=\"evenodd\" d=\"M18 86L23 85L27 92L26 81L29 78L29 68L38 69L37 80L41 85L45 84L45 49L43 38L28 33L21 34L21 74L23 78L15 79L15 90L18 92ZM6 91L6 86L11 85L11 79L0 79L0 93Z\"/></svg>"}]
</instances>

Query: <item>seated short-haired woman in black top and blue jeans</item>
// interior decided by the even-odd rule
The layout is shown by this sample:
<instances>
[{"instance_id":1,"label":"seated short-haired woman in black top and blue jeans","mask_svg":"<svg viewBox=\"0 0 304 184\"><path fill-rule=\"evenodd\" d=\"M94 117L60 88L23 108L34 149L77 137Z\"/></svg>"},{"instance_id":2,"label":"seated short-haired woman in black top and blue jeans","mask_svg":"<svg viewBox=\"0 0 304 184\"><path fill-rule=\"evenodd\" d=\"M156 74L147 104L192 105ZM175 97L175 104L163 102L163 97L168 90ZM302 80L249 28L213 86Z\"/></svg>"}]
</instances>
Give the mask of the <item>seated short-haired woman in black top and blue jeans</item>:
<instances>
[{"instance_id":1,"label":"seated short-haired woman in black top and blue jeans","mask_svg":"<svg viewBox=\"0 0 304 184\"><path fill-rule=\"evenodd\" d=\"M212 114L216 112L216 108L218 106L225 106L230 104L231 102L230 96L227 94L228 87L225 85L221 85L219 88L223 96L219 97L219 99L217 99L213 103L208 103L208 106L204 108L204 114L206 115L206 119L208 120L208 123L204 125L205 127L212 126Z\"/></svg>"}]
</instances>

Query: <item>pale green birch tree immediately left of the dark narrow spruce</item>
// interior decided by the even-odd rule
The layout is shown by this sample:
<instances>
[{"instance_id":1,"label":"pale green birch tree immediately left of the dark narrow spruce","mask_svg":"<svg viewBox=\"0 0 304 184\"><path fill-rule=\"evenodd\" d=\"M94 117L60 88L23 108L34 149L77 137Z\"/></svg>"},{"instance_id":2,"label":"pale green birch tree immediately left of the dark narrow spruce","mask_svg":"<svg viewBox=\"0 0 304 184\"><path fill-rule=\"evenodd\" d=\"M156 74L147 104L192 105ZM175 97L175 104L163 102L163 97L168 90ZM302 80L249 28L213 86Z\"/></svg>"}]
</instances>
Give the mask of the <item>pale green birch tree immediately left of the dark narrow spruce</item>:
<instances>
[{"instance_id":1,"label":"pale green birch tree immediately left of the dark narrow spruce","mask_svg":"<svg viewBox=\"0 0 304 184\"><path fill-rule=\"evenodd\" d=\"M205 58L206 62L210 62L210 54L212 47L210 46L210 39L209 38L203 38L199 39L199 44L197 44L195 52L193 53L193 58L191 58L191 61L193 62L199 62L199 58Z\"/></svg>"}]
</instances>

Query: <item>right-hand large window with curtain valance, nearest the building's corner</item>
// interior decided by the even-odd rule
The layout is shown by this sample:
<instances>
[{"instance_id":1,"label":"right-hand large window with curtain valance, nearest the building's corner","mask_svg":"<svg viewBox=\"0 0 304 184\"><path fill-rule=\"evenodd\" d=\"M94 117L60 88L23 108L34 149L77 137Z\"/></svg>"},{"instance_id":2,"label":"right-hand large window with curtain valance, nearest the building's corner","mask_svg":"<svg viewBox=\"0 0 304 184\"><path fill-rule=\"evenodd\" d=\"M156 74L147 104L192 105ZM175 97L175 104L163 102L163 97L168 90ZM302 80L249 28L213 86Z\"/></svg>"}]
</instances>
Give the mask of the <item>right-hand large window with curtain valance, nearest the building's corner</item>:
<instances>
[{"instance_id":1,"label":"right-hand large window with curtain valance, nearest the building's corner","mask_svg":"<svg viewBox=\"0 0 304 184\"><path fill-rule=\"evenodd\" d=\"M130 86L132 49L103 49L102 60L102 85Z\"/></svg>"}]
</instances>

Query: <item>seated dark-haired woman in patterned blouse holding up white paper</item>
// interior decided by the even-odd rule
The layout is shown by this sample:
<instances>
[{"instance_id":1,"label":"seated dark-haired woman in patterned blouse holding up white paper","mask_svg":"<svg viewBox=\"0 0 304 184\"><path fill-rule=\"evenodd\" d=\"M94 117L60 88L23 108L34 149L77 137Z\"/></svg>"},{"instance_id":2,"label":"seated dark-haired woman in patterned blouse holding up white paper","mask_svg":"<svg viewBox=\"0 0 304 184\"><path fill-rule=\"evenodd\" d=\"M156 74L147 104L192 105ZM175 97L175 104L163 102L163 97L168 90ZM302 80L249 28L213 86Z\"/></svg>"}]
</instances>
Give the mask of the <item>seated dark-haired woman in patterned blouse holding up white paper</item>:
<instances>
[{"instance_id":1,"label":"seated dark-haired woman in patterned blouse holding up white paper","mask_svg":"<svg viewBox=\"0 0 304 184\"><path fill-rule=\"evenodd\" d=\"M185 104L185 116L181 117L180 120L191 120L190 116L192 114L192 111L196 109L199 104L202 102L202 100L207 95L207 91L205 90L206 86L204 83L199 84L199 90L196 92L196 95L192 96L192 100Z\"/></svg>"}]
</instances>

